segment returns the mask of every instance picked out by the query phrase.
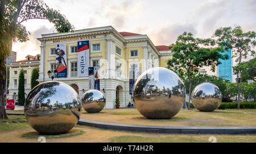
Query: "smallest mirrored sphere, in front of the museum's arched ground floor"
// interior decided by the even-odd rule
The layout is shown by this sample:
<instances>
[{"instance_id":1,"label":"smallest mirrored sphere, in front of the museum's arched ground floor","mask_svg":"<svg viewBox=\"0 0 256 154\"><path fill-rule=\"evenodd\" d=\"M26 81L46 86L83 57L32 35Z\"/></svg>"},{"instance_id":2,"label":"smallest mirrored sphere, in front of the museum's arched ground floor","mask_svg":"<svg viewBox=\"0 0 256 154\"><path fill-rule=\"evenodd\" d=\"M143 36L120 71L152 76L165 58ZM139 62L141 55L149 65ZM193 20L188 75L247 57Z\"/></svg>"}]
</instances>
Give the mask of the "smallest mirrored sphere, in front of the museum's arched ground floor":
<instances>
[{"instance_id":1,"label":"smallest mirrored sphere, in front of the museum's arched ground floor","mask_svg":"<svg viewBox=\"0 0 256 154\"><path fill-rule=\"evenodd\" d=\"M88 113L98 113L105 107L104 94L99 90L88 90L82 95L82 107Z\"/></svg>"}]
</instances>

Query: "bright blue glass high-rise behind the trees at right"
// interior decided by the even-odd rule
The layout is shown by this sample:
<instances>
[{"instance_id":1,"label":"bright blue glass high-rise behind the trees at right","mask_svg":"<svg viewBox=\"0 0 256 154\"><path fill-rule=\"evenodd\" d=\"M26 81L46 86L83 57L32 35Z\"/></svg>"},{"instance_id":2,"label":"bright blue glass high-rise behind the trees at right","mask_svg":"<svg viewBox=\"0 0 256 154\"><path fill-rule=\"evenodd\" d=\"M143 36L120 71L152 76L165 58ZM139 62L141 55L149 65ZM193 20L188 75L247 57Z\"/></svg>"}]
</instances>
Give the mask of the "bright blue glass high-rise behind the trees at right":
<instances>
[{"instance_id":1,"label":"bright blue glass high-rise behind the trees at right","mask_svg":"<svg viewBox=\"0 0 256 154\"><path fill-rule=\"evenodd\" d=\"M228 49L228 51L225 51L221 54L228 54L229 59L219 59L219 61L221 61L221 64L216 67L215 74L217 77L224 78L225 80L229 80L230 82L234 82L232 49Z\"/></svg>"}]
</instances>

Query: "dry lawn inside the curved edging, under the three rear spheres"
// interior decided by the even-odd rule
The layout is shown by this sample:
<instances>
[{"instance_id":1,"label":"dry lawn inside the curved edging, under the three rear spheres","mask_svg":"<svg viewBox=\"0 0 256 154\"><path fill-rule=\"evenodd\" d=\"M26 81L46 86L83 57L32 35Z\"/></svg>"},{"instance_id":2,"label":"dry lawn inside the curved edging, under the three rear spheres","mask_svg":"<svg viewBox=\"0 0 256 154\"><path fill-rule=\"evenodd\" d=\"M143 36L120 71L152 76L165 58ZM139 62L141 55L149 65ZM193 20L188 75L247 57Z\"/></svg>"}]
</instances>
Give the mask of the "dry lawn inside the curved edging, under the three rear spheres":
<instances>
[{"instance_id":1,"label":"dry lawn inside the curved edging, under the three rear spheres","mask_svg":"<svg viewBox=\"0 0 256 154\"><path fill-rule=\"evenodd\" d=\"M105 109L92 116L82 114L81 118L101 122L154 126L256 126L256 109L215 110L213 112L180 110L171 119L155 120L145 118L135 109Z\"/></svg>"}]
</instances>

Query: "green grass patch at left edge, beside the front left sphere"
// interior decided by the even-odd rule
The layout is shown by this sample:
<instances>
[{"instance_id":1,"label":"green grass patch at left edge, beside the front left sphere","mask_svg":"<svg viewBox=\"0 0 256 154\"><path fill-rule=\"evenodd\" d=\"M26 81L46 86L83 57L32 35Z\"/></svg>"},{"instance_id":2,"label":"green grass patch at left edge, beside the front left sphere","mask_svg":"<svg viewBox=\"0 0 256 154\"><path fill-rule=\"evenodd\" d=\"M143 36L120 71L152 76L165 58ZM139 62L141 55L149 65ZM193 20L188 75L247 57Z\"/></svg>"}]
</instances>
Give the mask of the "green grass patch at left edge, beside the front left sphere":
<instances>
[{"instance_id":1,"label":"green grass patch at left edge, beside the front left sphere","mask_svg":"<svg viewBox=\"0 0 256 154\"><path fill-rule=\"evenodd\" d=\"M30 127L23 115L9 115L9 119L0 120L0 132Z\"/></svg>"}]
</instances>

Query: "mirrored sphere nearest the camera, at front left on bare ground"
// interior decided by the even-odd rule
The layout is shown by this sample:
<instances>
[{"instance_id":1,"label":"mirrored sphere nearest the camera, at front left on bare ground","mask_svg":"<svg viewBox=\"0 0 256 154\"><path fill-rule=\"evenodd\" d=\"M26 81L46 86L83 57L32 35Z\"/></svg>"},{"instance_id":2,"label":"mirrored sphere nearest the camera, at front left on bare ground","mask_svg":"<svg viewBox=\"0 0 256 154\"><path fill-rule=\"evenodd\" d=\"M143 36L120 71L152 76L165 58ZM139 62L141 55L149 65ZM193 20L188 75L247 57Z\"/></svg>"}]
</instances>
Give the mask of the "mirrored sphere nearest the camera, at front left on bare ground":
<instances>
[{"instance_id":1,"label":"mirrored sphere nearest the camera, at front left on bare ground","mask_svg":"<svg viewBox=\"0 0 256 154\"><path fill-rule=\"evenodd\" d=\"M81 115L79 95L59 81L43 82L33 88L24 103L27 121L40 134L63 134Z\"/></svg>"}]
</instances>

